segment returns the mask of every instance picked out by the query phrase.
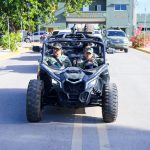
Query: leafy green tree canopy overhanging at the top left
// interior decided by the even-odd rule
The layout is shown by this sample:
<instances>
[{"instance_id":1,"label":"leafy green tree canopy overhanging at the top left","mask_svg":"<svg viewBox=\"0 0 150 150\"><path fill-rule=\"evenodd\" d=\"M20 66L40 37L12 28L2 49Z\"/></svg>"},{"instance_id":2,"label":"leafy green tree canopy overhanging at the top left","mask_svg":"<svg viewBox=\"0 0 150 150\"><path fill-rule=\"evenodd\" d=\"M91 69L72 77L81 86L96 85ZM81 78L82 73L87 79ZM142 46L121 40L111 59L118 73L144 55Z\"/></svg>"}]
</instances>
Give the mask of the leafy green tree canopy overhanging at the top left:
<instances>
[{"instance_id":1,"label":"leafy green tree canopy overhanging at the top left","mask_svg":"<svg viewBox=\"0 0 150 150\"><path fill-rule=\"evenodd\" d=\"M55 11L58 3L65 3L65 14L79 12L83 5L88 5L92 0L0 0L0 31L7 30L9 18L10 31L35 30L42 21L56 20ZM40 18L40 19L39 19Z\"/></svg>"}]
</instances>

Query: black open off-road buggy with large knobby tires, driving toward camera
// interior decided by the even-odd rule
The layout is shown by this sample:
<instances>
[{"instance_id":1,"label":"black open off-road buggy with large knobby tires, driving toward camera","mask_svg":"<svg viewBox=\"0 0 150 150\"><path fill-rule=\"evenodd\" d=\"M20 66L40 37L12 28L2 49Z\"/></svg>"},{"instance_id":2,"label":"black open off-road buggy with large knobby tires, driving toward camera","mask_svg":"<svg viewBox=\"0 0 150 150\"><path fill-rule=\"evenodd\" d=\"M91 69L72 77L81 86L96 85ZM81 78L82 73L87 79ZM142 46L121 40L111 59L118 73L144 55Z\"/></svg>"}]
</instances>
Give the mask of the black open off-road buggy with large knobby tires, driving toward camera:
<instances>
[{"instance_id":1,"label":"black open off-road buggy with large knobby tires, driving toward camera","mask_svg":"<svg viewBox=\"0 0 150 150\"><path fill-rule=\"evenodd\" d=\"M71 60L72 67L57 69L45 62L56 42L61 43L63 53ZM83 50L87 44L94 49L95 57L101 63L96 68L81 69L79 64L83 61ZM87 39L45 42L38 68L37 79L31 80L27 89L26 115L29 122L40 121L46 105L68 108L100 106L104 122L116 120L117 87L110 83L103 43Z\"/></svg>"}]
</instances>

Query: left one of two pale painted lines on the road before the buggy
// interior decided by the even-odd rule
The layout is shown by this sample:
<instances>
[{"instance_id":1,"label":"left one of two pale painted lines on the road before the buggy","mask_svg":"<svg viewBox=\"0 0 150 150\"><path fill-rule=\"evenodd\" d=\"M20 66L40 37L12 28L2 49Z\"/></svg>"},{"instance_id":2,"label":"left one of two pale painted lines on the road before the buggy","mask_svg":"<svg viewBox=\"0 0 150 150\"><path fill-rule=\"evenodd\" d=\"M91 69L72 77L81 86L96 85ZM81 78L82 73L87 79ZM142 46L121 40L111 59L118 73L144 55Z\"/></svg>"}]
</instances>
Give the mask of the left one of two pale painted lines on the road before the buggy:
<instances>
[{"instance_id":1,"label":"left one of two pale painted lines on the road before the buggy","mask_svg":"<svg viewBox=\"0 0 150 150\"><path fill-rule=\"evenodd\" d=\"M74 120L71 150L82 150L82 116L76 116Z\"/></svg>"}]
</instances>

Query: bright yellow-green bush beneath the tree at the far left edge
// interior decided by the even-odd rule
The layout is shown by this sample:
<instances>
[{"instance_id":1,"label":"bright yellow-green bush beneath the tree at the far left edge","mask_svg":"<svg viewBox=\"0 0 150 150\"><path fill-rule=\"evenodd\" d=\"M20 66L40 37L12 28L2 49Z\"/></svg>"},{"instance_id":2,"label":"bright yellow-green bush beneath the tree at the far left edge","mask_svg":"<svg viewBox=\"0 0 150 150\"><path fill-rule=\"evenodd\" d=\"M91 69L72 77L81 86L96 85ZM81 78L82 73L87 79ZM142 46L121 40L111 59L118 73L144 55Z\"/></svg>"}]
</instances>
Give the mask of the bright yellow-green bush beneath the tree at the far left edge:
<instances>
[{"instance_id":1,"label":"bright yellow-green bush beneath the tree at the far left edge","mask_svg":"<svg viewBox=\"0 0 150 150\"><path fill-rule=\"evenodd\" d=\"M10 49L11 49L11 51L17 51L17 48L18 48L17 44L18 44L18 42L21 42L21 33L20 32L10 33L10 35L9 35L8 32L6 32L5 35L0 40L0 45L4 49L9 48L9 37L10 37Z\"/></svg>"}]
</instances>

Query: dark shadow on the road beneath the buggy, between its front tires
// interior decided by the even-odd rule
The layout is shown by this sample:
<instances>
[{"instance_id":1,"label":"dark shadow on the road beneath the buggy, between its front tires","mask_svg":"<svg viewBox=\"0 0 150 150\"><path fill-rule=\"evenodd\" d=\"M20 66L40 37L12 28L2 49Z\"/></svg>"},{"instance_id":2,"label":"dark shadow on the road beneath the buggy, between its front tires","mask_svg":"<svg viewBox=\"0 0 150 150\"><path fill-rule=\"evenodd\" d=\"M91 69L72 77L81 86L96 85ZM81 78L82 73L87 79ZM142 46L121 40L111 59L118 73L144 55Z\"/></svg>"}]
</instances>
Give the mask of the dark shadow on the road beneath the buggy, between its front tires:
<instances>
[{"instance_id":1,"label":"dark shadow on the road beneath the buggy, between its front tires","mask_svg":"<svg viewBox=\"0 0 150 150\"><path fill-rule=\"evenodd\" d=\"M86 114L86 108L69 109L69 108L59 108L59 107L46 107L43 112L43 123L74 123L75 117L82 117L82 122L79 124L96 124L102 123L101 114L99 117L92 116L93 114Z\"/></svg>"}]
</instances>

